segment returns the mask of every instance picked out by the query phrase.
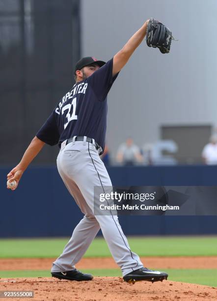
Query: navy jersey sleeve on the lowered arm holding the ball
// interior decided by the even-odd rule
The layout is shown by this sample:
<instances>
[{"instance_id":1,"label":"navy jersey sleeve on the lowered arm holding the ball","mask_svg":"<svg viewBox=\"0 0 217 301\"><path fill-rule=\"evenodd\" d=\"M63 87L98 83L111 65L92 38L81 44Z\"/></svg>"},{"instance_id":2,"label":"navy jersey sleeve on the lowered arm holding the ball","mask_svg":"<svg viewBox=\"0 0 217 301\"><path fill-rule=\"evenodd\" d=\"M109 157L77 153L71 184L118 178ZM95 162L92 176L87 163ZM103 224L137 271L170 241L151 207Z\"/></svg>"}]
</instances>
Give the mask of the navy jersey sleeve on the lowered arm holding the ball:
<instances>
[{"instance_id":1,"label":"navy jersey sleeve on the lowered arm holding the ball","mask_svg":"<svg viewBox=\"0 0 217 301\"><path fill-rule=\"evenodd\" d=\"M36 137L41 141L53 146L58 143L59 136L60 135L58 127L56 125L55 112L53 112L36 133Z\"/></svg>"}]
</instances>

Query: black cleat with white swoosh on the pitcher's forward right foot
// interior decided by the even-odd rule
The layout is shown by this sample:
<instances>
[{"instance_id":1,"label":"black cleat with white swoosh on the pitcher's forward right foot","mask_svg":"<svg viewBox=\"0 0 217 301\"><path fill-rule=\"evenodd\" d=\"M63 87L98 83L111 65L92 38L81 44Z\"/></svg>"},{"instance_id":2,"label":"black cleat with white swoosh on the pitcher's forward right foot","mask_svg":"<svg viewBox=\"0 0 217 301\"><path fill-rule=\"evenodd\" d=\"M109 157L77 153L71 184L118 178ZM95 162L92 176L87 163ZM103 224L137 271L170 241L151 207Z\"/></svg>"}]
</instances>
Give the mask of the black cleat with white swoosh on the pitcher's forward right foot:
<instances>
[{"instance_id":1,"label":"black cleat with white swoosh on the pitcher's forward right foot","mask_svg":"<svg viewBox=\"0 0 217 301\"><path fill-rule=\"evenodd\" d=\"M129 274L123 276L124 281L135 283L136 281L163 281L167 279L168 274L160 271L152 271L147 268L141 268L136 271L132 271Z\"/></svg>"}]
</instances>

